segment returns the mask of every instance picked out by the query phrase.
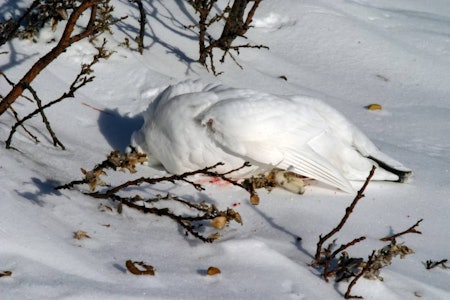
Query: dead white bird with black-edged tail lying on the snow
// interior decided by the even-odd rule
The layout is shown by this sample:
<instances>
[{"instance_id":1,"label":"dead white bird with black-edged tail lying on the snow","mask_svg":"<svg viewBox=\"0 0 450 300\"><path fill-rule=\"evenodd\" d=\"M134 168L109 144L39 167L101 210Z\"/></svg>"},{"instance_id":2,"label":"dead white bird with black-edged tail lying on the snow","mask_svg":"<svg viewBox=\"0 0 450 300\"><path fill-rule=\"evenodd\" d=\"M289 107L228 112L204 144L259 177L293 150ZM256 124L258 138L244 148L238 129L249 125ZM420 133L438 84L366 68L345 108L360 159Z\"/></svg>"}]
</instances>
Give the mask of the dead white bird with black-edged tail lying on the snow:
<instances>
[{"instance_id":1,"label":"dead white bird with black-edged tail lying on the snow","mask_svg":"<svg viewBox=\"0 0 450 300\"><path fill-rule=\"evenodd\" d=\"M131 144L170 173L250 162L233 177L278 168L350 193L350 181L365 180L373 165L372 180L404 182L412 174L342 114L305 96L184 81L159 93L144 120Z\"/></svg>"}]
</instances>

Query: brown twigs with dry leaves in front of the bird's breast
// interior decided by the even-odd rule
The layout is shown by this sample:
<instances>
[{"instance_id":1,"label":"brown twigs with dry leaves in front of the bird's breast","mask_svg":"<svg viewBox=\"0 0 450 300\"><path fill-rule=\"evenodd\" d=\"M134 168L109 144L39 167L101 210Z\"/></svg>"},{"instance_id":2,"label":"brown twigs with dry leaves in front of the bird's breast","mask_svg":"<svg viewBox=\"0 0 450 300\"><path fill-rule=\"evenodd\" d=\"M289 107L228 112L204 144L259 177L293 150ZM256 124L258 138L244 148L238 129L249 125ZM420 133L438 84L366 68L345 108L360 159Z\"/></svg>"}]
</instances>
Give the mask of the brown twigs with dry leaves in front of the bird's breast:
<instances>
[{"instance_id":1,"label":"brown twigs with dry leaves in front of the bird's breast","mask_svg":"<svg viewBox=\"0 0 450 300\"><path fill-rule=\"evenodd\" d=\"M90 192L85 192L86 195L97 199L112 200L118 204L118 210L121 210L123 206L127 206L143 213L168 217L178 223L185 230L186 234L191 234L195 238L208 243L219 238L220 233L214 232L207 236L201 234L199 230L204 225L205 221L209 222L209 225L214 229L222 229L232 221L242 224L242 219L239 213L231 208L219 210L214 204L208 204L206 202L196 203L169 193L165 196L156 194L148 197L142 194L133 194L131 192L133 187L136 186L140 186L140 191L142 191L145 188L145 185L151 186L160 182L175 183L180 181L189 183L195 189L202 191L204 190L203 186L189 179L190 177L198 174L221 178L235 184L236 186L242 187L238 182L226 177L227 174L235 172L238 169L234 169L226 173L218 173L214 171L214 168L220 165L220 163L211 167L186 172L180 175L154 178L139 177L134 180L126 181L115 187L110 187L101 179L101 176L106 175L105 170L107 169L122 171L128 170L131 173L134 173L136 172L136 165L141 164L144 161L146 161L145 154L138 153L136 151L131 151L127 154L113 151L110 155L108 155L106 160L95 166L92 170L86 171L81 169L84 175L83 179L72 181L68 184L59 186L56 189L68 189L80 184L87 184L89 185ZM241 168L247 166L248 164L244 164ZM98 188L105 186L108 187L106 190L97 190ZM177 214L169 208L169 204L176 204L187 208L187 212Z\"/></svg>"}]
</instances>

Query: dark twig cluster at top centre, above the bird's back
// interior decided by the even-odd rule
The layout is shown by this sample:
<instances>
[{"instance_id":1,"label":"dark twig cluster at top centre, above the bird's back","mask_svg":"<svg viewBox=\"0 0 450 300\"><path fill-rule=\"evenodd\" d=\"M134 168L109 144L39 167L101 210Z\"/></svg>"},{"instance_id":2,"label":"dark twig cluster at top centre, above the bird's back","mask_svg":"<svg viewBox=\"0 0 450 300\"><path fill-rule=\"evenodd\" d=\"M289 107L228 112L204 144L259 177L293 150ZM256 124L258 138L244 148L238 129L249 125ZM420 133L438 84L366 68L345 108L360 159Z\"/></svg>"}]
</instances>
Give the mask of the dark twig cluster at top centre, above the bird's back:
<instances>
[{"instance_id":1,"label":"dark twig cluster at top centre, above the bird's back","mask_svg":"<svg viewBox=\"0 0 450 300\"><path fill-rule=\"evenodd\" d=\"M237 37L244 37L247 30L251 27L253 16L256 9L262 0L234 0L233 3L227 4L227 6L219 13L212 15L212 9L215 7L217 0L189 0L191 6L199 14L199 22L196 25L187 26L188 28L198 27L199 29L199 62L208 68L207 59L209 58L209 64L214 75L219 75L216 72L214 66L213 50L220 49L223 51L220 62L225 61L225 57L229 55L231 59L240 67L242 66L237 62L231 51L235 51L239 54L241 48L265 48L264 45L251 45L249 43L243 45L233 45L234 40ZM253 3L250 9L247 6ZM246 14L246 11L247 14ZM222 33L219 38L215 39L208 34L208 28L214 23L224 21Z\"/></svg>"}]
</instances>

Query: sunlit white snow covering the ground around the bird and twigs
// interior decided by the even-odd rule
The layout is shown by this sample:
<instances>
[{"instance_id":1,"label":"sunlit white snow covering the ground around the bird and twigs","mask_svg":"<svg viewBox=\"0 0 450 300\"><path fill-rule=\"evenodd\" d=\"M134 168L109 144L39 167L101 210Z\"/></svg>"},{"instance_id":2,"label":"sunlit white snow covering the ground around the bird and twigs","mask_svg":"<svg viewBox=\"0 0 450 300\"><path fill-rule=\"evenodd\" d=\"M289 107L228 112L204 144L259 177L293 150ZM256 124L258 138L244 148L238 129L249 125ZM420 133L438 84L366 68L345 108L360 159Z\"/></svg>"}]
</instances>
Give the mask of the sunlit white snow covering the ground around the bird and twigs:
<instances>
[{"instance_id":1,"label":"sunlit white snow covering the ground around the bird and twigs","mask_svg":"<svg viewBox=\"0 0 450 300\"><path fill-rule=\"evenodd\" d=\"M308 264L319 235L338 224L352 195L312 184L304 195L262 190L260 204L252 206L245 192L231 186L206 183L200 193L188 184L161 184L145 191L170 191L220 209L233 207L241 214L242 226L231 223L221 231L221 239L204 244L186 237L167 218L127 208L118 214L99 209L100 204L113 206L108 201L78 190L54 190L79 179L80 168L91 169L111 150L123 151L142 125L140 113L149 99L188 78L321 98L383 152L412 168L415 177L408 184L370 183L366 197L336 236L337 243L364 235L367 239L349 252L367 258L385 244L379 238L423 218L421 235L399 239L415 254L382 269L382 282L361 279L352 293L365 299L448 299L450 272L424 267L427 260L449 258L447 1L262 1L248 40L238 42L264 44L270 50L243 49L238 56L243 70L228 57L216 65L224 72L219 77L196 63L196 31L183 27L196 16L186 2L146 3L149 24L142 56L117 46L125 36L137 34L137 10L128 1L113 2L116 16L132 14L132 26L119 23L108 37L107 46L116 53L94 67L92 84L47 111L67 150L51 145L38 117L26 124L39 144L19 129L12 145L20 152L0 145L0 272L12 272L0 277L2 299L342 298L347 283L326 283ZM10 11L17 9L11 1L1 3L4 16L9 6ZM0 69L17 81L54 46L49 39L51 33L46 32L37 43L14 40L3 45L0 52L8 53L0 55ZM73 45L33 87L42 99L54 99L92 53L86 41ZM9 89L1 80L1 94ZM365 109L370 103L383 109ZM23 100L14 107L21 115L30 109ZM1 141L13 123L9 112L0 117ZM109 172L104 180L117 184L166 174L146 166L138 169L135 175ZM74 239L78 230L90 238ZM128 259L153 265L156 275L130 274ZM205 275L209 266L222 273Z\"/></svg>"}]
</instances>

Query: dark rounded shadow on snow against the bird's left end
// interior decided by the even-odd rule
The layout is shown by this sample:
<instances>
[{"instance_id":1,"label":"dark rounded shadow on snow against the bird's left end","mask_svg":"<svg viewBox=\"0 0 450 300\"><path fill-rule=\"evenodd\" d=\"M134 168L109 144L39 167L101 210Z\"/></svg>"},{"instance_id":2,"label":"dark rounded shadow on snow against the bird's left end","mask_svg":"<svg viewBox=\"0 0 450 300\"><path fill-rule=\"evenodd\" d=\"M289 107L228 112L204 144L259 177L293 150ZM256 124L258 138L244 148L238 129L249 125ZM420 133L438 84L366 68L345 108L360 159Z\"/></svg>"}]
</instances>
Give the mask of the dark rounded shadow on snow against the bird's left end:
<instances>
[{"instance_id":1,"label":"dark rounded shadow on snow against the bird's left end","mask_svg":"<svg viewBox=\"0 0 450 300\"><path fill-rule=\"evenodd\" d=\"M98 119L100 132L114 150L125 151L130 145L131 135L144 124L144 118L122 116L117 109L104 110Z\"/></svg>"}]
</instances>

